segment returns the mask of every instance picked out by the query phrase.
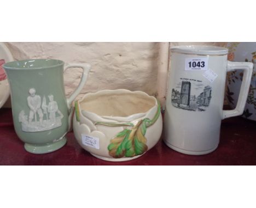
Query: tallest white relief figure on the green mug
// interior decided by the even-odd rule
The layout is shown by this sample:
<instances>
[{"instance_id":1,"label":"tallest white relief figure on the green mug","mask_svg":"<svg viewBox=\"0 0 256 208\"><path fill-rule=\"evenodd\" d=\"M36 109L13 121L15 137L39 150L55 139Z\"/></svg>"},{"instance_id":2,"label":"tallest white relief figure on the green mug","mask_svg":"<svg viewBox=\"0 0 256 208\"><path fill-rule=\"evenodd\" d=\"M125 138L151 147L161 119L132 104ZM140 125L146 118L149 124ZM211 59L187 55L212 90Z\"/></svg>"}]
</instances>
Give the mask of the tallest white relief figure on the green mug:
<instances>
[{"instance_id":1,"label":"tallest white relief figure on the green mug","mask_svg":"<svg viewBox=\"0 0 256 208\"><path fill-rule=\"evenodd\" d=\"M36 95L36 90L31 88L28 90L30 96L27 97L27 105L30 107L30 116L28 117L28 122L31 123L33 118L37 122L37 114L39 115L40 124L43 123L43 112L41 109L41 97Z\"/></svg>"}]
</instances>

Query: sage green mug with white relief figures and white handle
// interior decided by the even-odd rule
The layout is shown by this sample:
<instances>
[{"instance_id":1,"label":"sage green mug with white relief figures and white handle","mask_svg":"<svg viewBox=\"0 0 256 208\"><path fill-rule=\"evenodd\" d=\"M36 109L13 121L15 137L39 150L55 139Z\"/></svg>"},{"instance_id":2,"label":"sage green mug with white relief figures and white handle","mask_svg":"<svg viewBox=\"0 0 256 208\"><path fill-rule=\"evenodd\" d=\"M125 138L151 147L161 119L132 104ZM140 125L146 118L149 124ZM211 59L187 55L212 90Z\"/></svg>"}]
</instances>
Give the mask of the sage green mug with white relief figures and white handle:
<instances>
[{"instance_id":1,"label":"sage green mug with white relief figures and white handle","mask_svg":"<svg viewBox=\"0 0 256 208\"><path fill-rule=\"evenodd\" d=\"M42 154L61 148L70 127L70 102L86 82L89 65L82 67L82 81L66 99L63 87L64 63L61 60L34 59L4 65L11 90L15 132L25 142L25 149Z\"/></svg>"}]
</instances>

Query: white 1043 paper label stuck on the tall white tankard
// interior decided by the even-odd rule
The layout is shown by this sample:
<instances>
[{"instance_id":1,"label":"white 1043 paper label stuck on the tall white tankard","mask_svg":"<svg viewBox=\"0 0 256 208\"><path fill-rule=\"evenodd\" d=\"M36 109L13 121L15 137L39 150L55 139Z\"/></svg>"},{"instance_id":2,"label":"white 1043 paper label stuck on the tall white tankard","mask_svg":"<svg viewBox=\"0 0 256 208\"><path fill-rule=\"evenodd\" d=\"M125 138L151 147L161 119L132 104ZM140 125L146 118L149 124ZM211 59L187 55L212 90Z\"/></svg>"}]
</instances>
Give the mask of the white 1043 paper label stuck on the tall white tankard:
<instances>
[{"instance_id":1,"label":"white 1043 paper label stuck on the tall white tankard","mask_svg":"<svg viewBox=\"0 0 256 208\"><path fill-rule=\"evenodd\" d=\"M206 71L208 70L208 58L186 58L185 71Z\"/></svg>"}]
</instances>

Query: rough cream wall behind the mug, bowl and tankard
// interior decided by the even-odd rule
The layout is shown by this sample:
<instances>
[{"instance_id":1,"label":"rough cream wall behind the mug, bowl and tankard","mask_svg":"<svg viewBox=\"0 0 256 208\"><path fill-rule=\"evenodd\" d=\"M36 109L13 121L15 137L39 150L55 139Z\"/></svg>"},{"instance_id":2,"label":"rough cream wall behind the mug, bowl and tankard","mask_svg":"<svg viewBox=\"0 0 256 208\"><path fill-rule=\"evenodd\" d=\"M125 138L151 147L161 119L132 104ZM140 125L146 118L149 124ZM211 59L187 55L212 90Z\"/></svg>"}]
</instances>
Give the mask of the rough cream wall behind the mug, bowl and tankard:
<instances>
[{"instance_id":1,"label":"rough cream wall behind the mug, bowl and tankard","mask_svg":"<svg viewBox=\"0 0 256 208\"><path fill-rule=\"evenodd\" d=\"M189 44L225 46L225 42L171 42L170 46ZM78 97L118 88L156 94L158 42L8 42L7 46L15 60L53 58L90 63L88 82ZM67 96L78 85L80 72L65 72Z\"/></svg>"}]
</instances>

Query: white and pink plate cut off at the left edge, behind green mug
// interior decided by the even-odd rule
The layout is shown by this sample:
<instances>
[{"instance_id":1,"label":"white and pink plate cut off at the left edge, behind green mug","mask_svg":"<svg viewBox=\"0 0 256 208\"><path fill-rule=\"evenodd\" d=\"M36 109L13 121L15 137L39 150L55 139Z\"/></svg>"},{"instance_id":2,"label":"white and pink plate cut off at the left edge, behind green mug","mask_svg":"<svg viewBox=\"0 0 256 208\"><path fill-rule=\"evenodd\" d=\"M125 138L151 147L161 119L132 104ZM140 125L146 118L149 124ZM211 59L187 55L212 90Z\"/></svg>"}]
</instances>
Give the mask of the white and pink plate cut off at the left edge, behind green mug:
<instances>
[{"instance_id":1,"label":"white and pink plate cut off at the left edge, behind green mug","mask_svg":"<svg viewBox=\"0 0 256 208\"><path fill-rule=\"evenodd\" d=\"M13 56L3 42L0 42L0 108L4 105L10 95L10 88L3 64L12 62Z\"/></svg>"}]
</instances>

